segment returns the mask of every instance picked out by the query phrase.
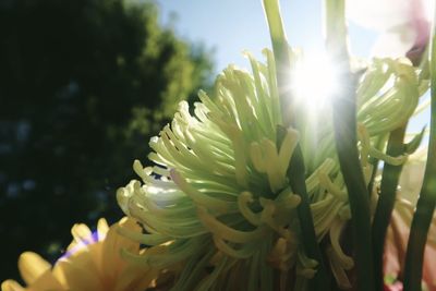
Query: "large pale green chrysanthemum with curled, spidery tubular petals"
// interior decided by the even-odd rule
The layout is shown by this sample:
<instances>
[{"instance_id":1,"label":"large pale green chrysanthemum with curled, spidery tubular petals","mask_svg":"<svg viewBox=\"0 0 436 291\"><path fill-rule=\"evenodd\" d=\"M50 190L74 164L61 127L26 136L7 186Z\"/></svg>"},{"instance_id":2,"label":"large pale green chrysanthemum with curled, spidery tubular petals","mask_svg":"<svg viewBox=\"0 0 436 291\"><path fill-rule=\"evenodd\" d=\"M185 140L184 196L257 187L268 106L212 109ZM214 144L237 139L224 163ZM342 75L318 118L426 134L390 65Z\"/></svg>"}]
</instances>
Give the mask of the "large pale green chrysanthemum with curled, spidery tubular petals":
<instances>
[{"instance_id":1,"label":"large pale green chrysanthemum with curled, spidery tubular petals","mask_svg":"<svg viewBox=\"0 0 436 291\"><path fill-rule=\"evenodd\" d=\"M156 166L144 168L136 160L134 170L143 183L131 181L118 192L123 211L147 232L122 233L146 245L168 244L167 253L124 255L156 268L183 263L173 290L284 290L292 280L303 286L314 275L317 263L302 246L295 210L300 197L287 178L298 143L317 240L324 242L339 286L350 286L346 270L353 260L341 248L350 210L329 109L319 112L319 122L308 122L302 112L295 117L298 129L287 129L277 144L281 108L276 69L272 53L264 52L267 64L247 53L252 74L225 70L213 98L199 93L194 116L181 102L171 125L150 141L155 151L149 159ZM293 51L292 68L302 61ZM358 120L367 183L374 170L371 157L405 160L407 153L388 157L384 147L386 135L414 112L419 85L411 64L388 59L374 60L361 77Z\"/></svg>"}]
</instances>

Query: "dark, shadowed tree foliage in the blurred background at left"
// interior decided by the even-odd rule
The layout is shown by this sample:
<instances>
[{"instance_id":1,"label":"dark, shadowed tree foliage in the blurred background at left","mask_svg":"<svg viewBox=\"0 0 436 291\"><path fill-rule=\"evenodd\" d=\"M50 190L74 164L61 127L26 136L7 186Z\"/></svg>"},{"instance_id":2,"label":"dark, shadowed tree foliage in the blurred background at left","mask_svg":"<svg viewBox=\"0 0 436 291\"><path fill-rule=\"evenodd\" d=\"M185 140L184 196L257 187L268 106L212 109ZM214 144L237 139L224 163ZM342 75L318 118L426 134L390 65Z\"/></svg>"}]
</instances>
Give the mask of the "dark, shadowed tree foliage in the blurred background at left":
<instances>
[{"instance_id":1,"label":"dark, shadowed tree foliage in the blurred background at left","mask_svg":"<svg viewBox=\"0 0 436 291\"><path fill-rule=\"evenodd\" d=\"M73 223L122 216L117 187L208 84L206 56L150 2L0 1L0 280L24 251L58 257Z\"/></svg>"}]
</instances>

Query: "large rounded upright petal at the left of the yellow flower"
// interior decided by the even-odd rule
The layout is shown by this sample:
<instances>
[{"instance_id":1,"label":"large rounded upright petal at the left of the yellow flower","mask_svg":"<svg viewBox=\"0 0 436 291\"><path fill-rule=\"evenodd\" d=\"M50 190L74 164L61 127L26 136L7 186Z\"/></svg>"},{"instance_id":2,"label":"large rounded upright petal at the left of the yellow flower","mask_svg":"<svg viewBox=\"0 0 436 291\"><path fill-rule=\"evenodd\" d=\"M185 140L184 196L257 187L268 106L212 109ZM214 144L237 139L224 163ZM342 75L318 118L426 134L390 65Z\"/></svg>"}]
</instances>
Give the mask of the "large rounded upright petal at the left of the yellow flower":
<instances>
[{"instance_id":1,"label":"large rounded upright petal at the left of the yellow flower","mask_svg":"<svg viewBox=\"0 0 436 291\"><path fill-rule=\"evenodd\" d=\"M44 272L51 269L51 265L33 252L25 252L19 258L21 277L27 284L32 284Z\"/></svg>"}]
</instances>

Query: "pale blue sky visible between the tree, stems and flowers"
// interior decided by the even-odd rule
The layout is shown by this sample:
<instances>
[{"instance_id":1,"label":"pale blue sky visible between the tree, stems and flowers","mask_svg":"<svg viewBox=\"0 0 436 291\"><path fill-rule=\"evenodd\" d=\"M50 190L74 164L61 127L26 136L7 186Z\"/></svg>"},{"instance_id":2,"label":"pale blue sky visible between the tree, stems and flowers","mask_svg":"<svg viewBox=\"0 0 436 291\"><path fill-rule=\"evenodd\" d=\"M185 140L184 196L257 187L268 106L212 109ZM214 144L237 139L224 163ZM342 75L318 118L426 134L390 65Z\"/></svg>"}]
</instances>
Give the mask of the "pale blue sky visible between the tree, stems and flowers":
<instances>
[{"instance_id":1,"label":"pale blue sky visible between the tree, stems and flowers","mask_svg":"<svg viewBox=\"0 0 436 291\"><path fill-rule=\"evenodd\" d=\"M216 72L229 63L249 68L242 51L247 49L262 59L262 49L270 47L268 27L261 0L157 0L160 21L175 28L179 36L204 43L215 49ZM291 46L305 50L323 48L322 0L281 0L284 28ZM175 20L171 17L177 14ZM374 32L350 23L351 52L368 57L376 39ZM427 123L426 114L411 122L416 132Z\"/></svg>"}]
</instances>

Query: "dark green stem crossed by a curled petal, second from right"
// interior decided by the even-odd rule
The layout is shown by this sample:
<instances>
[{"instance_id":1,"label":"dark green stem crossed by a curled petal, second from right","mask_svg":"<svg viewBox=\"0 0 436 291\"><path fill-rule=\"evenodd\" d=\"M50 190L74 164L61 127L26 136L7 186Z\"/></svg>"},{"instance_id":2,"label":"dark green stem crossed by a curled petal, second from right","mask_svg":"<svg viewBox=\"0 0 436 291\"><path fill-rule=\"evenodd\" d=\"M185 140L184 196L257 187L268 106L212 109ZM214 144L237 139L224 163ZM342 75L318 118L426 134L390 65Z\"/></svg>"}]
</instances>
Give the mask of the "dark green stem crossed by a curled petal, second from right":
<instances>
[{"instance_id":1,"label":"dark green stem crossed by a curled petal, second from right","mask_svg":"<svg viewBox=\"0 0 436 291\"><path fill-rule=\"evenodd\" d=\"M389 156L399 156L404 153L404 133L405 125L393 130L389 135L386 154ZM377 208L373 220L373 250L374 250L374 274L376 280L376 290L383 290L383 254L385 250L386 231L390 222L395 201L397 197L397 186L400 178L402 165L392 166L385 162L383 168L383 179L380 185L380 195L378 197Z\"/></svg>"}]
</instances>

